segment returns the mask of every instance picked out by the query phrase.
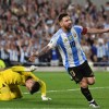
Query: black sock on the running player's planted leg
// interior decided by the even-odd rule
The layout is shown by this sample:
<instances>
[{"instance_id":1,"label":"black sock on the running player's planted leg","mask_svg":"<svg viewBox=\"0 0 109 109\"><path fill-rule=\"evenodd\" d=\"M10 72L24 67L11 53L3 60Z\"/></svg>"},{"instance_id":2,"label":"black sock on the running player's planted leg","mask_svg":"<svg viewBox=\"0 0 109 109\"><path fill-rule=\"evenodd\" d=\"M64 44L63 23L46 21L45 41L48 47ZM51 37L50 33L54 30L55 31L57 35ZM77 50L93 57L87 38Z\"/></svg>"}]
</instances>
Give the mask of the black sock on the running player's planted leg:
<instances>
[{"instance_id":1,"label":"black sock on the running player's planted leg","mask_svg":"<svg viewBox=\"0 0 109 109\"><path fill-rule=\"evenodd\" d=\"M89 102L93 101L93 97L92 97L92 94L90 94L88 87L87 88L81 87L81 92Z\"/></svg>"}]
</instances>

